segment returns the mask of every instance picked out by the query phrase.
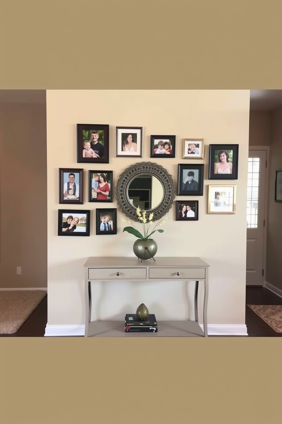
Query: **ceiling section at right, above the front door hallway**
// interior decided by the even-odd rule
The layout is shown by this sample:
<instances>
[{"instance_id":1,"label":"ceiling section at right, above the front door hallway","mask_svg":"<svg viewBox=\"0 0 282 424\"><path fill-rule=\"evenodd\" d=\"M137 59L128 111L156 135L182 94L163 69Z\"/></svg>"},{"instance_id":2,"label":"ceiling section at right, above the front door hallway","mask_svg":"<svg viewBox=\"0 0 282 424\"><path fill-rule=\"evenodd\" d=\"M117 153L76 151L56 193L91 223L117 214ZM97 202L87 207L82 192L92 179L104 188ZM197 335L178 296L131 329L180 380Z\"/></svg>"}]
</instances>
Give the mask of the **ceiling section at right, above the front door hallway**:
<instances>
[{"instance_id":1,"label":"ceiling section at right, above the front door hallway","mask_svg":"<svg viewBox=\"0 0 282 424\"><path fill-rule=\"evenodd\" d=\"M250 90L250 110L271 111L282 105L282 90Z\"/></svg>"}]
</instances>

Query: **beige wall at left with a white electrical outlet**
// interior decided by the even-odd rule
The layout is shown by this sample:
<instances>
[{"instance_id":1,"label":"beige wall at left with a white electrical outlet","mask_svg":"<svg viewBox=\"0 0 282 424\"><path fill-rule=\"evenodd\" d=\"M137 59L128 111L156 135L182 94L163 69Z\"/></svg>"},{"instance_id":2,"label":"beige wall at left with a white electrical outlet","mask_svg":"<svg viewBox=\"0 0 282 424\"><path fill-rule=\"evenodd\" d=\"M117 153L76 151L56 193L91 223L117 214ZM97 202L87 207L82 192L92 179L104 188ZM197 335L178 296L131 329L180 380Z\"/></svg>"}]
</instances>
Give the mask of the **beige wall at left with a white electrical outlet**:
<instances>
[{"instance_id":1,"label":"beige wall at left with a white electrical outlet","mask_svg":"<svg viewBox=\"0 0 282 424\"><path fill-rule=\"evenodd\" d=\"M0 103L0 221L0 288L47 287L45 105Z\"/></svg>"}]
</instances>

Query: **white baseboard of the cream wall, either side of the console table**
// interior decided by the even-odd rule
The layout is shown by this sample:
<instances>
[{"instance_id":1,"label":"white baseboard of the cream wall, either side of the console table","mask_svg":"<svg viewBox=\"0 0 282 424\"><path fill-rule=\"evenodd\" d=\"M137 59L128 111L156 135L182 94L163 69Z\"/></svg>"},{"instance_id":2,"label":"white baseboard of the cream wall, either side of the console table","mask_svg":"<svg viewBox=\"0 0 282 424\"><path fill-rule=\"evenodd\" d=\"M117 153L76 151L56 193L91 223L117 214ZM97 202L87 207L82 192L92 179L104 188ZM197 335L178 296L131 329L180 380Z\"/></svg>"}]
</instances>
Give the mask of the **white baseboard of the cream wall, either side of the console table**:
<instances>
[{"instance_id":1,"label":"white baseboard of the cream wall, either side of the console table","mask_svg":"<svg viewBox=\"0 0 282 424\"><path fill-rule=\"evenodd\" d=\"M203 330L203 324L200 324ZM75 337L84 336L84 325L48 325L45 328L45 336L52 337ZM247 336L246 325L208 325L210 336Z\"/></svg>"}]
</instances>

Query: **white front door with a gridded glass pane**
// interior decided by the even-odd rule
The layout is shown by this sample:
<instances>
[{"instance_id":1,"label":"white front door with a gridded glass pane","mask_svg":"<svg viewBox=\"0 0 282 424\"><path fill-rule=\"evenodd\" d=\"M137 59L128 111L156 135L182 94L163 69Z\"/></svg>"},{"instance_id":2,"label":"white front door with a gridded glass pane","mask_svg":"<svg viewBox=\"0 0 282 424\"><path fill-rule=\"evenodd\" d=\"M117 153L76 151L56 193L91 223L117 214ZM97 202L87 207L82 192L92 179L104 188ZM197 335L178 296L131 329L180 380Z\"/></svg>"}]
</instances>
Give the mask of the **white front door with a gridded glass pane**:
<instances>
[{"instance_id":1,"label":"white front door with a gridded glass pane","mask_svg":"<svg viewBox=\"0 0 282 424\"><path fill-rule=\"evenodd\" d=\"M263 285L266 151L249 150L247 185L246 285Z\"/></svg>"}]
</instances>

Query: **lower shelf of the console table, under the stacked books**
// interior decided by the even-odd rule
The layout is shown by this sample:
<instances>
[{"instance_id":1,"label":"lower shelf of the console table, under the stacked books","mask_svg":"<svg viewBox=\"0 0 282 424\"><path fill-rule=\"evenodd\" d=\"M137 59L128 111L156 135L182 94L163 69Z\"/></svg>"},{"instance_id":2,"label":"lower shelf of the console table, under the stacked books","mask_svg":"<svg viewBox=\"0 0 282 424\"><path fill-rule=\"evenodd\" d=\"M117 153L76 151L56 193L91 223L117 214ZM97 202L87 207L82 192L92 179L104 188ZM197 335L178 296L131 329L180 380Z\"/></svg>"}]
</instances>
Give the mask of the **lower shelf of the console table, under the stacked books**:
<instances>
[{"instance_id":1,"label":"lower shelf of the console table, under the stacked books","mask_svg":"<svg viewBox=\"0 0 282 424\"><path fill-rule=\"evenodd\" d=\"M158 332L124 331L124 321L91 321L88 337L204 337L196 321L158 321Z\"/></svg>"}]
</instances>

